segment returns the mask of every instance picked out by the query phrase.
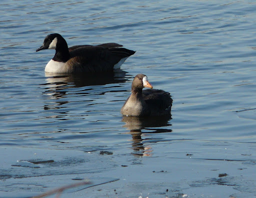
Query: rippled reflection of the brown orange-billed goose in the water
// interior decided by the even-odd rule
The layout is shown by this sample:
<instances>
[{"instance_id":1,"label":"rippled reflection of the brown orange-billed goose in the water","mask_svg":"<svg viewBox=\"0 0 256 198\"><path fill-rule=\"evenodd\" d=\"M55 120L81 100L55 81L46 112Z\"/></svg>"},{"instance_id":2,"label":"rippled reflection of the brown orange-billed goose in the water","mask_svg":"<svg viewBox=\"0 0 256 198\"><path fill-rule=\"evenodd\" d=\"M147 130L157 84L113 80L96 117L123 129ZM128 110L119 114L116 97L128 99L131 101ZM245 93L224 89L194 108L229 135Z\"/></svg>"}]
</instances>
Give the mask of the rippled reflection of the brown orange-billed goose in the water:
<instances>
[{"instance_id":1,"label":"rippled reflection of the brown orange-billed goose in the water","mask_svg":"<svg viewBox=\"0 0 256 198\"><path fill-rule=\"evenodd\" d=\"M171 132L172 130L168 128L162 128L163 126L171 126L168 121L171 119L171 115L164 116L148 116L148 117L138 117L138 116L123 116L122 121L125 122L123 127L129 129L129 133L132 136L132 149L134 150L134 155L136 156L150 156L152 148L149 146L144 146L143 141L147 142L158 142L162 141L162 138L143 138L141 136L151 133L161 133L161 132ZM155 128L160 127L160 128ZM150 132L142 132L141 130L149 130Z\"/></svg>"}]
</instances>

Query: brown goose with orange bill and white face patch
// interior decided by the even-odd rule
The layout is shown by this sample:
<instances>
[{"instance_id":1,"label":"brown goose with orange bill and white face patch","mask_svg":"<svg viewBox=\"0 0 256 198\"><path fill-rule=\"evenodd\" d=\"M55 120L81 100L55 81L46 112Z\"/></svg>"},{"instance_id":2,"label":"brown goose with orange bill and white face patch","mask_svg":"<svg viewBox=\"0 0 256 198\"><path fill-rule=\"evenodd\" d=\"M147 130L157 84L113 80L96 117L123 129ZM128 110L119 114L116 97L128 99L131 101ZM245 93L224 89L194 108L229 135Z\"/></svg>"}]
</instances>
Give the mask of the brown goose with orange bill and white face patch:
<instances>
[{"instance_id":1,"label":"brown goose with orange bill and white face patch","mask_svg":"<svg viewBox=\"0 0 256 198\"><path fill-rule=\"evenodd\" d=\"M143 87L149 87L142 91ZM170 114L172 99L170 93L152 89L147 76L137 74L131 84L131 95L126 99L121 114L126 116L158 116Z\"/></svg>"}]
</instances>

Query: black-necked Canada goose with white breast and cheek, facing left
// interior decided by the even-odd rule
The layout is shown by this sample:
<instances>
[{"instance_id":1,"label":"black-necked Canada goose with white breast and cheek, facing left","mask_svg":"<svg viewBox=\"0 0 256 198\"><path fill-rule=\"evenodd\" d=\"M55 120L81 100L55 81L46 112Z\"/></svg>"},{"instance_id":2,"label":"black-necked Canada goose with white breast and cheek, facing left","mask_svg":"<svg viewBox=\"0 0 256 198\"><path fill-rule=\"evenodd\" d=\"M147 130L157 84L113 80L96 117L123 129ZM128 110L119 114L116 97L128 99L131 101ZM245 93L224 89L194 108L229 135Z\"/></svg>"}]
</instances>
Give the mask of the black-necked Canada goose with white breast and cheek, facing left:
<instances>
[{"instance_id":1,"label":"black-necked Canada goose with white breast and cheek, facing left","mask_svg":"<svg viewBox=\"0 0 256 198\"><path fill-rule=\"evenodd\" d=\"M46 64L44 71L51 73L105 72L119 68L135 51L122 48L117 43L99 45L75 45L67 47L65 39L58 33L48 34L42 49L55 49L54 57Z\"/></svg>"}]
</instances>

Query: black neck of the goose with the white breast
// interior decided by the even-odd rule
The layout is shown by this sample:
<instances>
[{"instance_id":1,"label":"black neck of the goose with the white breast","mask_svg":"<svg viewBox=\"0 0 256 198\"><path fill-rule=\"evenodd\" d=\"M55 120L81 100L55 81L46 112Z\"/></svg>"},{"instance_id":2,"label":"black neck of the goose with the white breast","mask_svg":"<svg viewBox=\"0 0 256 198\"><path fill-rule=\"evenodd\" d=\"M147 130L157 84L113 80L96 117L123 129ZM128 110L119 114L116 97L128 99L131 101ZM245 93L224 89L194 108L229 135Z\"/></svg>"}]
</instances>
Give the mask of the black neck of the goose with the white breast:
<instances>
[{"instance_id":1,"label":"black neck of the goose with the white breast","mask_svg":"<svg viewBox=\"0 0 256 198\"><path fill-rule=\"evenodd\" d=\"M66 62L70 58L70 54L68 51L68 46L64 38L58 38L56 48L55 48L55 55L52 58L58 62Z\"/></svg>"}]
</instances>

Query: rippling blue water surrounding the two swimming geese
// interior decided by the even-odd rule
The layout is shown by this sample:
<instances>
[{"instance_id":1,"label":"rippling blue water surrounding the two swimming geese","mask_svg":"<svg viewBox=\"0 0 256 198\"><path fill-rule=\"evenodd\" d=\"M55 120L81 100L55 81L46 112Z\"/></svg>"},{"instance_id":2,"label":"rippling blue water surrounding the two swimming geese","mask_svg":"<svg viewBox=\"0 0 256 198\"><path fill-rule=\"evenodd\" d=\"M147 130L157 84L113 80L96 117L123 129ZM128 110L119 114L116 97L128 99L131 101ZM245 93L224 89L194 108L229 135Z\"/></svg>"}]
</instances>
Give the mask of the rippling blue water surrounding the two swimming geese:
<instances>
[{"instance_id":1,"label":"rippling blue water surrounding the two swimming geese","mask_svg":"<svg viewBox=\"0 0 256 198\"><path fill-rule=\"evenodd\" d=\"M61 197L255 196L255 9L1 0L0 197L84 178L99 185ZM52 32L69 46L117 42L136 53L112 74L47 74L54 51L35 49ZM171 93L171 117L121 116L137 73Z\"/></svg>"}]
</instances>

